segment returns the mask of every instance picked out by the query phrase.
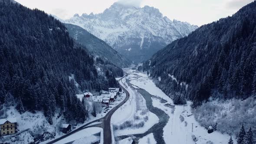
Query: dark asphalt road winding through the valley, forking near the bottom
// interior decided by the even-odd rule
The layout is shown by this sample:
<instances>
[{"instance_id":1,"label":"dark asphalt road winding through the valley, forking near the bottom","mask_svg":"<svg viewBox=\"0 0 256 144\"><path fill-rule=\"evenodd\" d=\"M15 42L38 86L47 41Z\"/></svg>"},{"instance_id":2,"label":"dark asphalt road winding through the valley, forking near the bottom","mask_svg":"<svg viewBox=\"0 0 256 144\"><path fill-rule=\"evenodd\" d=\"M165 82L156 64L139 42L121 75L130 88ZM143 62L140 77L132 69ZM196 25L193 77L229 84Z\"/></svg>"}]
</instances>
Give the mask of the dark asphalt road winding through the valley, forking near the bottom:
<instances>
[{"instance_id":1,"label":"dark asphalt road winding through the valley, forking near the bottom","mask_svg":"<svg viewBox=\"0 0 256 144\"><path fill-rule=\"evenodd\" d=\"M123 78L125 78L125 76L124 76ZM123 79L123 78L121 78L121 79ZM120 82L121 79L118 80L118 83ZM120 85L120 83L119 83L119 85ZM85 124L85 125L81 126L80 128L77 128L77 129L75 129L75 130L73 130L73 131L70 131L68 134L65 134L65 135L63 135L63 136L61 136L61 137L59 137L59 138L56 138L56 139L54 139L53 141L50 141L50 142L48 142L48 143L46 143L46 144L53 144L53 143L55 143L55 142L57 142L57 141L62 140L63 138L66 138L66 137L68 137L68 136L70 136L70 135L72 135L72 134L78 132L78 131L81 131L81 130L84 129L84 128L89 128L89 127L92 127L92 126L95 127L95 125L92 125L92 126L88 126L88 125L89 125L89 124L92 124L92 123L95 123L95 122L98 122L98 121L103 121L103 124L104 124L104 127L103 127L104 144L111 144L111 143L112 143L111 128L110 128L111 117L112 117L112 115L114 114L114 112L115 112L118 108L120 108L122 105L124 105L125 102L126 102L126 101L129 99L129 97L130 97L130 94L128 93L128 91L127 91L124 87L122 87L121 85L120 85L120 87L122 88L122 90L125 91L125 93L126 93L126 98L125 98L124 101L122 101L120 104L118 104L115 108L113 108L112 110L110 110L110 111L107 113L107 115L105 115L105 117L99 118L99 119L97 119L97 120L95 120L95 121L91 121L91 122L89 122L88 124ZM98 124L96 124L96 125L98 125Z\"/></svg>"}]
</instances>

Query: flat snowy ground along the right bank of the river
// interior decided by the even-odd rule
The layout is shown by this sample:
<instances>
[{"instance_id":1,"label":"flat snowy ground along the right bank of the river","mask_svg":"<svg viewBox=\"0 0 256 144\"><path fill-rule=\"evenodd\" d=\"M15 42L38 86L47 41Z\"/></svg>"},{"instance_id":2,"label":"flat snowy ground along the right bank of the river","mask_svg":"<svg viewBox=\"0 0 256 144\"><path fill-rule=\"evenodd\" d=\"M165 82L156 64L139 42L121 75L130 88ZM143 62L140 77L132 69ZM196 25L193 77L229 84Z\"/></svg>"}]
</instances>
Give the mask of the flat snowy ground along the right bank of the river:
<instances>
[{"instance_id":1,"label":"flat snowy ground along the right bank of the river","mask_svg":"<svg viewBox=\"0 0 256 144\"><path fill-rule=\"evenodd\" d=\"M153 81L147 78L145 74L137 73L134 70L125 70L125 72L129 73L128 79L132 79L130 81L132 85L146 90L151 95L163 98L168 104L173 104L171 98L157 88ZM167 103L161 103L157 98L152 98L152 100L154 107L161 108L170 117L167 125L164 127L163 137L166 144L194 144L195 142L192 139L192 135L197 137L197 144L207 144L207 142L210 143L210 141L213 142L213 144L227 144L230 138L229 135L221 134L217 131L208 134L207 130L200 126L200 124L195 120L194 115L191 113L189 101L187 101L187 106L175 106L174 109L165 106ZM184 121L181 121L180 115L184 117ZM194 126L193 132L192 123Z\"/></svg>"}]
</instances>

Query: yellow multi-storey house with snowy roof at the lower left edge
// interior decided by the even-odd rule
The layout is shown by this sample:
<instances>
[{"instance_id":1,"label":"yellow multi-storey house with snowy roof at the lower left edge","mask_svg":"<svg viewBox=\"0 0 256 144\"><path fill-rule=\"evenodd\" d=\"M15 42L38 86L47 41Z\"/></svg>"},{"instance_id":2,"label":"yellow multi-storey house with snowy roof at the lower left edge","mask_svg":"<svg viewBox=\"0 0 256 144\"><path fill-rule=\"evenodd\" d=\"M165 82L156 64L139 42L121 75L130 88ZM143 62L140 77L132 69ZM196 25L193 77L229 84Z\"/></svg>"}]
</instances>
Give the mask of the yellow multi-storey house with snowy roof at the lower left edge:
<instances>
[{"instance_id":1,"label":"yellow multi-storey house with snowy roof at the lower left edge","mask_svg":"<svg viewBox=\"0 0 256 144\"><path fill-rule=\"evenodd\" d=\"M17 129L16 118L0 119L1 136L15 134Z\"/></svg>"}]
</instances>

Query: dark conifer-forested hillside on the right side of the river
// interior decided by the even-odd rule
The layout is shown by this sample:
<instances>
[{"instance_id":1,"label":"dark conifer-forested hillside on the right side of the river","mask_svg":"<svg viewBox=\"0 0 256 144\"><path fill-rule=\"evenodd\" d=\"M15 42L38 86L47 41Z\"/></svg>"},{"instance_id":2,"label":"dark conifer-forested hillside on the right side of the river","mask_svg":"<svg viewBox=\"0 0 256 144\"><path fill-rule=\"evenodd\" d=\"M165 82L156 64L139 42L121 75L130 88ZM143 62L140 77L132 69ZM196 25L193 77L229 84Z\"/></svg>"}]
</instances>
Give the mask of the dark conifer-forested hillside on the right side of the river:
<instances>
[{"instance_id":1,"label":"dark conifer-forested hillside on the right side of the river","mask_svg":"<svg viewBox=\"0 0 256 144\"><path fill-rule=\"evenodd\" d=\"M233 16L203 25L144 62L165 93L194 108L213 98L245 99L256 93L256 2Z\"/></svg>"}]
</instances>

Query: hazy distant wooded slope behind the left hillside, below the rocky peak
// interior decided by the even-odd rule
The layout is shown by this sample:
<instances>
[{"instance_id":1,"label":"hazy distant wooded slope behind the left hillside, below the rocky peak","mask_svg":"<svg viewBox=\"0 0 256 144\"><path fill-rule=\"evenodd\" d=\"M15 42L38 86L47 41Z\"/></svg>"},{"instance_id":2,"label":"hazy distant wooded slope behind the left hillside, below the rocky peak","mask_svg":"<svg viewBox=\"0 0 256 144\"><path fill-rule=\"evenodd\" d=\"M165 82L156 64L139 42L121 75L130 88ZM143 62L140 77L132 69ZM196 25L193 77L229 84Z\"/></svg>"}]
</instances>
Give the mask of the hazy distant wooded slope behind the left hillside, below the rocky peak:
<instances>
[{"instance_id":1,"label":"hazy distant wooded slope behind the left hillside, below the rocky peak","mask_svg":"<svg viewBox=\"0 0 256 144\"><path fill-rule=\"evenodd\" d=\"M95 56L100 57L105 61L112 62L113 64L119 66L120 68L129 67L131 61L121 56L117 51L112 49L103 40L98 39L96 36L92 35L85 29L72 25L65 24L69 31L69 35L73 37L77 42L86 46L86 48Z\"/></svg>"}]
</instances>

